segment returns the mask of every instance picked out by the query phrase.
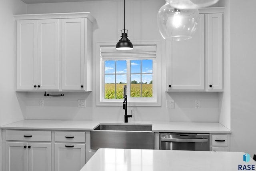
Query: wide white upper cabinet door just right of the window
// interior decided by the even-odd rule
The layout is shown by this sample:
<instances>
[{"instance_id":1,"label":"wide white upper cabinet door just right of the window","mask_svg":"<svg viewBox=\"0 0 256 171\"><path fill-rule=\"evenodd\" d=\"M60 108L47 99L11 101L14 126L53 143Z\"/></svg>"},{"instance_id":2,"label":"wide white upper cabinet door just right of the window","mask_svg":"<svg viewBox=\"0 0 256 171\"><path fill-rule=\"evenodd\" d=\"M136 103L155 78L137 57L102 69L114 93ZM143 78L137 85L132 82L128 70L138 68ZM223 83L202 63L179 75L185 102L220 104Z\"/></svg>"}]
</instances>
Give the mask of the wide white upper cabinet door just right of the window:
<instances>
[{"instance_id":1,"label":"wide white upper cabinet door just right of the window","mask_svg":"<svg viewBox=\"0 0 256 171\"><path fill-rule=\"evenodd\" d=\"M167 90L204 90L204 14L190 40L166 41Z\"/></svg>"}]
</instances>

